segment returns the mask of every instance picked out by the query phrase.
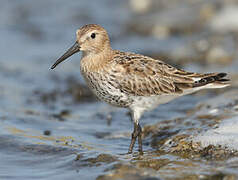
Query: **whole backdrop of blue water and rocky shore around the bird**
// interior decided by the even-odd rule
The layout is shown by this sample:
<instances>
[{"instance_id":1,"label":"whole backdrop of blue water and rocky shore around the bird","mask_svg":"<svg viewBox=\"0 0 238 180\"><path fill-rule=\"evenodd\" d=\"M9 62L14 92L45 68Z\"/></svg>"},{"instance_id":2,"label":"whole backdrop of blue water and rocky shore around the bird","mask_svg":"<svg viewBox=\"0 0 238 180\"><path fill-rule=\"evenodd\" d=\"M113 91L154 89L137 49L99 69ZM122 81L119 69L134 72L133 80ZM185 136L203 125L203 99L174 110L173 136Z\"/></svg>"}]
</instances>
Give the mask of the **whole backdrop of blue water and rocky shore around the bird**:
<instances>
[{"instance_id":1,"label":"whole backdrop of blue water and rocky shore around the bird","mask_svg":"<svg viewBox=\"0 0 238 180\"><path fill-rule=\"evenodd\" d=\"M0 179L237 178L237 1L0 2ZM227 72L232 86L145 114L145 155L126 155L128 112L85 87L80 54L49 70L89 23L109 32L114 49Z\"/></svg>"}]
</instances>

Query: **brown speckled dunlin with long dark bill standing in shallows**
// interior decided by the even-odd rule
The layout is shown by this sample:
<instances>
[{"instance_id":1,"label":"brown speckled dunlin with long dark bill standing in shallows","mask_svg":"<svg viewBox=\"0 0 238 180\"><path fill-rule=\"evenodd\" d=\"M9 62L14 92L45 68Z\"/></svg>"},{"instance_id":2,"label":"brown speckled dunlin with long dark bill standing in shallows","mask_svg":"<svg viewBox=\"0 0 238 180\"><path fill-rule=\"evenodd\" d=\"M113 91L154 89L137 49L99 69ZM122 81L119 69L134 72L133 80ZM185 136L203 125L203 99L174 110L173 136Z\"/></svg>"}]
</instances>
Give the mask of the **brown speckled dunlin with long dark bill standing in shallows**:
<instances>
[{"instance_id":1,"label":"brown speckled dunlin with long dark bill standing in shallows","mask_svg":"<svg viewBox=\"0 0 238 180\"><path fill-rule=\"evenodd\" d=\"M128 153L137 138L143 153L139 119L145 111L200 89L229 85L226 73L186 72L148 56L113 50L107 31L96 24L81 27L76 36L74 45L51 69L82 51L80 70L88 87L99 99L131 111L134 131Z\"/></svg>"}]
</instances>

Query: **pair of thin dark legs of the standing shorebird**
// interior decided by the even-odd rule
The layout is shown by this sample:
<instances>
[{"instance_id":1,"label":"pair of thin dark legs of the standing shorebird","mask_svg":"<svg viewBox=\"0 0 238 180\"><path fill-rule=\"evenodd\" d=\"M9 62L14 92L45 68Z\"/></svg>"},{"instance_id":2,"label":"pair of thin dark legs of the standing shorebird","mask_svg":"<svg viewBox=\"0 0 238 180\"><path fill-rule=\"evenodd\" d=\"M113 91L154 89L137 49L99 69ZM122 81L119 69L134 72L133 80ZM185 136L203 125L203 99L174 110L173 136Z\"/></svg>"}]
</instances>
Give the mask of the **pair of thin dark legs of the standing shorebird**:
<instances>
[{"instance_id":1,"label":"pair of thin dark legs of the standing shorebird","mask_svg":"<svg viewBox=\"0 0 238 180\"><path fill-rule=\"evenodd\" d=\"M138 124L134 123L134 131L131 134L131 144L130 144L130 147L129 147L129 150L128 150L129 154L132 153L132 150L133 150L133 147L135 145L137 137L138 137L138 144L139 144L139 153L143 154L141 133L142 133L142 130L141 130L140 124L139 123Z\"/></svg>"}]
</instances>

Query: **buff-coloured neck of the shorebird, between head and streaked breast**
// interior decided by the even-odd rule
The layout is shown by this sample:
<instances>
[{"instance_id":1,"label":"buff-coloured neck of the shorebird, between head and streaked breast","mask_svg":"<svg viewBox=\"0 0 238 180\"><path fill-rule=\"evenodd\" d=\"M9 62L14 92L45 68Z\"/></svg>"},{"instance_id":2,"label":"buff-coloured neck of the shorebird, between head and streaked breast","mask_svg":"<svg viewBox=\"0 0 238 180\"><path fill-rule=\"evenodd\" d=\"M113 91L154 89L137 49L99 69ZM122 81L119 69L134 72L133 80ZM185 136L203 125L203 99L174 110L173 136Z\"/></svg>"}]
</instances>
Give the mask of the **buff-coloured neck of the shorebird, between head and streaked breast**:
<instances>
[{"instance_id":1,"label":"buff-coloured neck of the shorebird, between head and streaked breast","mask_svg":"<svg viewBox=\"0 0 238 180\"><path fill-rule=\"evenodd\" d=\"M83 52L80 68L83 72L99 72L112 60L113 50L104 49L99 53Z\"/></svg>"}]
</instances>

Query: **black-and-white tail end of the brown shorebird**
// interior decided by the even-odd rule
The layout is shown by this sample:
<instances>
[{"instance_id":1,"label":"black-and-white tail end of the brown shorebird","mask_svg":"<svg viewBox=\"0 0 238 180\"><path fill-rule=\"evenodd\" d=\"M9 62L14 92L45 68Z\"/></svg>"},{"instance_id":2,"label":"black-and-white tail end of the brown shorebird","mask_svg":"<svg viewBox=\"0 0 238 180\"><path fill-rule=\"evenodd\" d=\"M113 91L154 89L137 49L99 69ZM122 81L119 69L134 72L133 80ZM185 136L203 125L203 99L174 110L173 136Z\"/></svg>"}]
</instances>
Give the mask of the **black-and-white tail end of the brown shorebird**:
<instances>
[{"instance_id":1,"label":"black-and-white tail end of the brown shorebird","mask_svg":"<svg viewBox=\"0 0 238 180\"><path fill-rule=\"evenodd\" d=\"M226 73L212 73L206 74L201 78L196 78L193 83L193 88L210 89L210 88L224 88L230 85L230 79L225 78Z\"/></svg>"}]
</instances>

